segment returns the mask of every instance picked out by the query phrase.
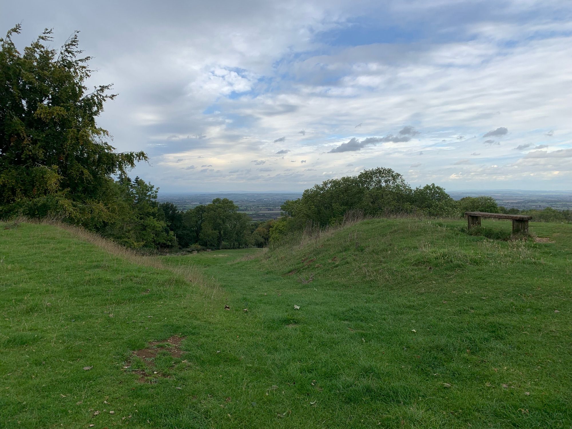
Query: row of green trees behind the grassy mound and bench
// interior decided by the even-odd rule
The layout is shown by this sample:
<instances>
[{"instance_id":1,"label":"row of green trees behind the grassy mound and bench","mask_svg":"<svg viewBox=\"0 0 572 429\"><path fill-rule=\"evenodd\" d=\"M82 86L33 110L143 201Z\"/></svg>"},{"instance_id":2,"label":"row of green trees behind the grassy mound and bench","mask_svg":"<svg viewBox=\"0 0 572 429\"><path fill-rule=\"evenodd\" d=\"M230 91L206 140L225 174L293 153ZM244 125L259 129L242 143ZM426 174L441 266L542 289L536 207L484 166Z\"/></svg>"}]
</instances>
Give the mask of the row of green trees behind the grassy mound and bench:
<instances>
[{"instance_id":1,"label":"row of green trees behind the grassy mound and bench","mask_svg":"<svg viewBox=\"0 0 572 429\"><path fill-rule=\"evenodd\" d=\"M367 217L406 214L452 218L462 217L465 212L521 213L533 216L534 221L572 221L571 210L506 209L489 196L456 201L435 184L411 188L401 174L388 168L326 180L306 189L297 200L285 201L281 209L284 216L272 225L270 241L307 225L339 224L351 212Z\"/></svg>"}]
</instances>

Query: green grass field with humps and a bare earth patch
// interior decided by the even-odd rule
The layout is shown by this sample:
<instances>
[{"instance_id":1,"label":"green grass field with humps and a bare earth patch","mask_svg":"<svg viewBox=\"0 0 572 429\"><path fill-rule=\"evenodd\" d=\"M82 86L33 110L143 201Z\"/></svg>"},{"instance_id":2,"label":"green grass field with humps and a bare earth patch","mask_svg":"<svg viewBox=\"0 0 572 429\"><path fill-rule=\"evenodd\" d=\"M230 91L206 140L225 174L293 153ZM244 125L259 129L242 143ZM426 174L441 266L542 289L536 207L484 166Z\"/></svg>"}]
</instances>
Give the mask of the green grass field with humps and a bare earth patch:
<instances>
[{"instance_id":1,"label":"green grass field with humps and a bare earth patch","mask_svg":"<svg viewBox=\"0 0 572 429\"><path fill-rule=\"evenodd\" d=\"M0 427L569 428L572 225L463 225L155 258L0 229Z\"/></svg>"}]
</instances>

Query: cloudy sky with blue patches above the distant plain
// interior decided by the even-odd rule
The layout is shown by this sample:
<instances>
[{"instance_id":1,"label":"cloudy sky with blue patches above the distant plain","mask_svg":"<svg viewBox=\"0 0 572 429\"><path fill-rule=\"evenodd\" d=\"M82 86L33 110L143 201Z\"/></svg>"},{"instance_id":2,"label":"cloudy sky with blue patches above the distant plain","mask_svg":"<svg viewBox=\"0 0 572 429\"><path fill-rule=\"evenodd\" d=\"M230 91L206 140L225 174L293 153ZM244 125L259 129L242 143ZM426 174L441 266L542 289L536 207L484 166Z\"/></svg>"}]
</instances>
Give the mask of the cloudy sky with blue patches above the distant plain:
<instances>
[{"instance_id":1,"label":"cloudy sky with blue patches above the distant plain","mask_svg":"<svg viewBox=\"0 0 572 429\"><path fill-rule=\"evenodd\" d=\"M80 30L99 124L163 191L572 189L570 0L0 0L19 45Z\"/></svg>"}]
</instances>

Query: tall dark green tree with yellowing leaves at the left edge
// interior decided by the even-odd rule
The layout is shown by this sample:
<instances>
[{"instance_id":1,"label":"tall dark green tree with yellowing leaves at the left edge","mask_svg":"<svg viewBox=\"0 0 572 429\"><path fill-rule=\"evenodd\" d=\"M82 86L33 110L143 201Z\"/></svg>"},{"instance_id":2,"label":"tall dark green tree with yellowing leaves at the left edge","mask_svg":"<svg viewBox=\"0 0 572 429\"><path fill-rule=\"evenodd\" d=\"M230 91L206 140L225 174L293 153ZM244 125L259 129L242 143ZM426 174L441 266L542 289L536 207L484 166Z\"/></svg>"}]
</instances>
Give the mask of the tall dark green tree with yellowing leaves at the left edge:
<instances>
[{"instance_id":1,"label":"tall dark green tree with yellowing leaves at the left edge","mask_svg":"<svg viewBox=\"0 0 572 429\"><path fill-rule=\"evenodd\" d=\"M59 215L87 227L113 220L113 175L125 174L144 152L115 152L97 126L110 85L89 90L88 62L77 32L59 50L44 30L21 53L0 38L0 216Z\"/></svg>"}]
</instances>

